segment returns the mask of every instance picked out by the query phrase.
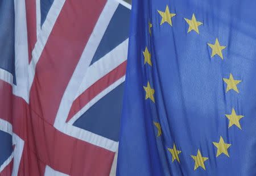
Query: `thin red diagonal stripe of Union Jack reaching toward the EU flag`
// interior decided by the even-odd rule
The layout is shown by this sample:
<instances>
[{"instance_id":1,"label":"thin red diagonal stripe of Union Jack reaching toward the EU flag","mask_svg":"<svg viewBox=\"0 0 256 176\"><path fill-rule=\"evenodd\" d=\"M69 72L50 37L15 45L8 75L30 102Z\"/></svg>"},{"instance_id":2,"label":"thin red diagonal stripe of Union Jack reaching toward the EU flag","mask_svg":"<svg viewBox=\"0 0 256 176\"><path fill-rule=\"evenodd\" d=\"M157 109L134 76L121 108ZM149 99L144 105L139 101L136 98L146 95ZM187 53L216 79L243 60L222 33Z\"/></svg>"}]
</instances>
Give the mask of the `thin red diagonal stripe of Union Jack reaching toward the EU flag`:
<instances>
[{"instance_id":1,"label":"thin red diagonal stripe of Union Jack reaching toward the EU flag","mask_svg":"<svg viewBox=\"0 0 256 176\"><path fill-rule=\"evenodd\" d=\"M125 76L126 72L126 61L118 65L111 72L106 74L104 77L98 79L92 86L84 91L76 100L73 102L67 121L69 121L77 112L81 110L87 103L90 102L94 97L105 90L107 87L112 85L115 81Z\"/></svg>"}]
</instances>

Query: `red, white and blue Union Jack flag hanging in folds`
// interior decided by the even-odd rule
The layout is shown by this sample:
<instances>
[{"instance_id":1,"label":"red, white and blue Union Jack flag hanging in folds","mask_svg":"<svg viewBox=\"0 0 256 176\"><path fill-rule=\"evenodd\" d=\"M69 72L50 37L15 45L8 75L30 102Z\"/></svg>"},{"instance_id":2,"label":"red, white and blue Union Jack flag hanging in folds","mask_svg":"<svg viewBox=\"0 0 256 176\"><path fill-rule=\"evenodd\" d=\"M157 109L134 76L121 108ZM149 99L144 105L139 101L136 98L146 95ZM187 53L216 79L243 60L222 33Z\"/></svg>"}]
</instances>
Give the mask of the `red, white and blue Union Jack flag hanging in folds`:
<instances>
[{"instance_id":1,"label":"red, white and blue Union Jack flag hanging in folds","mask_svg":"<svg viewBox=\"0 0 256 176\"><path fill-rule=\"evenodd\" d=\"M0 2L0 175L109 175L130 5Z\"/></svg>"}]
</instances>

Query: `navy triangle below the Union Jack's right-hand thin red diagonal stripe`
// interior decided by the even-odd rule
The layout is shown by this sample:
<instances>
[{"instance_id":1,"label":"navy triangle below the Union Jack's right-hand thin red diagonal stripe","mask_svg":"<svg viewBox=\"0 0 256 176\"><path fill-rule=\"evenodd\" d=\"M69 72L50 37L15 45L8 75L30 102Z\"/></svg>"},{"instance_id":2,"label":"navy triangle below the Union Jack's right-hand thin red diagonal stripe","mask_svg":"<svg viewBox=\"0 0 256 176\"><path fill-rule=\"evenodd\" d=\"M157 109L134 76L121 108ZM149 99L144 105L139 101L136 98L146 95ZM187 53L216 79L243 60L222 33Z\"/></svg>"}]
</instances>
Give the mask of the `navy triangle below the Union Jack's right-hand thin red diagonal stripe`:
<instances>
[{"instance_id":1,"label":"navy triangle below the Union Jack's right-hand thin red diagonal stripe","mask_svg":"<svg viewBox=\"0 0 256 176\"><path fill-rule=\"evenodd\" d=\"M97 135L107 137L108 139L118 141L123 85L124 83L98 100L73 125L96 133ZM100 121L101 123L96 123L95 121Z\"/></svg>"}]
</instances>

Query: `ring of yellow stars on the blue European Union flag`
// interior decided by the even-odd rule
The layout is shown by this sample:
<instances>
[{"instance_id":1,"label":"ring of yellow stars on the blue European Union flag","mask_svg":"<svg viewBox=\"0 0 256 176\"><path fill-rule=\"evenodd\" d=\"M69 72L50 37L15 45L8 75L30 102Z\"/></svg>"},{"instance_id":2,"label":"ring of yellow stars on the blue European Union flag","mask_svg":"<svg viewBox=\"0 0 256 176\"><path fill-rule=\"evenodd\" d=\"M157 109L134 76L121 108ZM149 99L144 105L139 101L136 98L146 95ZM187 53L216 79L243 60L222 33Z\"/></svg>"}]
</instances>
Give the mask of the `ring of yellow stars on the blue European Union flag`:
<instances>
[{"instance_id":1,"label":"ring of yellow stars on the blue European Union flag","mask_svg":"<svg viewBox=\"0 0 256 176\"><path fill-rule=\"evenodd\" d=\"M164 11L157 10L161 21L160 21L160 26L162 26L164 23L169 24L172 27L172 18L176 16L175 13L170 12L170 9L168 5L166 6L166 9ZM200 22L196 19L195 14L192 14L192 18L184 18L185 22L188 24L188 31L192 32L195 31L198 35L200 34L199 32L199 27L203 25L203 22ZM148 33L151 36L152 35L152 23L148 22ZM221 58L221 60L224 60L224 57L222 55L222 51L226 48L226 46L221 45L218 38L216 37L215 43L207 43L209 48L211 49L212 53L210 55L210 58ZM144 65L149 65L152 66L152 61L151 61L151 53L148 51L148 48L145 47L144 51L142 51L143 57L144 57ZM229 78L222 78L224 83L226 84L226 91L225 93L228 93L230 90L235 91L236 93L240 93L238 90L238 84L241 82L241 80L234 79L233 74L230 73ZM146 86L143 86L144 91L146 92L146 100L150 99L151 102L155 103L155 98L154 98L154 93L155 90L151 87L150 82L147 82ZM243 115L237 115L236 111L234 108L232 108L231 114L225 114L226 118L229 120L229 125L228 128L232 127L235 125L239 129L241 128L240 120L244 117ZM154 121L153 124L156 127L157 130L157 137L162 136L162 129L161 125L159 122ZM220 136L220 140L218 142L212 142L212 144L216 147L217 152L216 152L216 157L220 156L221 154L225 154L225 156L229 157L228 149L230 148L231 144L225 143L225 140L223 139L222 136ZM179 154L181 154L181 150L177 149L175 143L173 144L172 148L167 148L168 151L171 153L172 156L172 162L177 161L180 163L180 158ZM194 160L195 165L194 165L194 170L198 169L199 167L205 168L205 162L209 159L208 157L205 157L202 155L200 149L197 150L196 156L191 155L191 158Z\"/></svg>"}]
</instances>

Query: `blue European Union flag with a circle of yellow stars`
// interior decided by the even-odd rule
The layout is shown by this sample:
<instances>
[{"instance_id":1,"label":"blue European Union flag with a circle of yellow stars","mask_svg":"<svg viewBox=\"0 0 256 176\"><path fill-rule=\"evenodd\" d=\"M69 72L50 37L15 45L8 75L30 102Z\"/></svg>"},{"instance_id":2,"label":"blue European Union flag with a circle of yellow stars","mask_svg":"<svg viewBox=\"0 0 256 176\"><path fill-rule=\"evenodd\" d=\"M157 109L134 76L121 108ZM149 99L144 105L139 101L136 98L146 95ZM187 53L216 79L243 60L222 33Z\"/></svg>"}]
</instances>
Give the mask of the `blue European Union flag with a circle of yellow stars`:
<instances>
[{"instance_id":1,"label":"blue European Union flag with a circle of yellow stars","mask_svg":"<svg viewBox=\"0 0 256 176\"><path fill-rule=\"evenodd\" d=\"M256 1L133 1L117 175L256 175Z\"/></svg>"}]
</instances>

